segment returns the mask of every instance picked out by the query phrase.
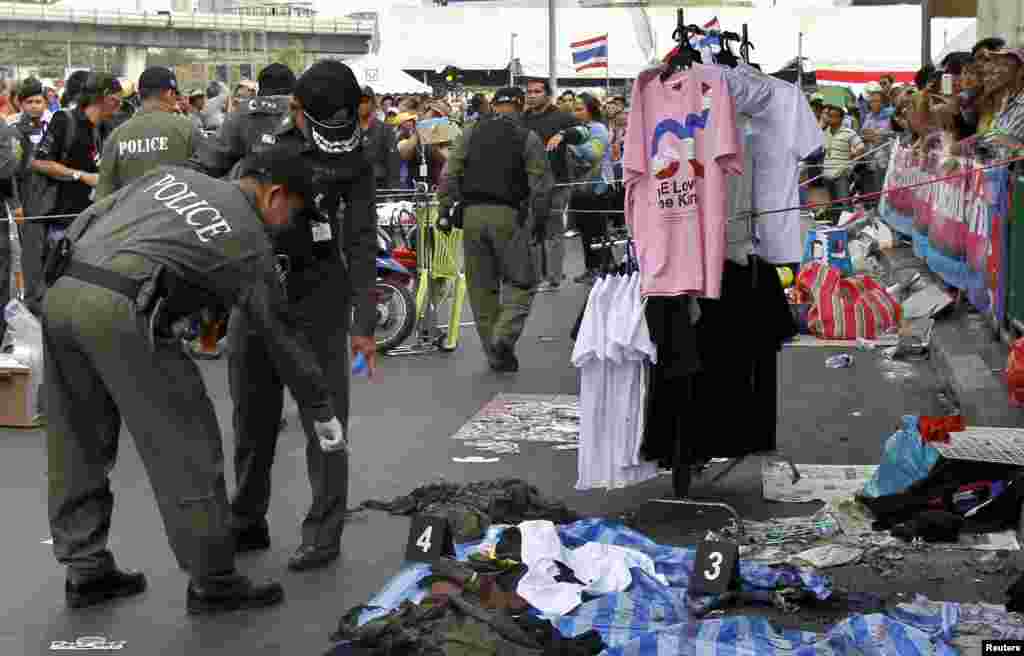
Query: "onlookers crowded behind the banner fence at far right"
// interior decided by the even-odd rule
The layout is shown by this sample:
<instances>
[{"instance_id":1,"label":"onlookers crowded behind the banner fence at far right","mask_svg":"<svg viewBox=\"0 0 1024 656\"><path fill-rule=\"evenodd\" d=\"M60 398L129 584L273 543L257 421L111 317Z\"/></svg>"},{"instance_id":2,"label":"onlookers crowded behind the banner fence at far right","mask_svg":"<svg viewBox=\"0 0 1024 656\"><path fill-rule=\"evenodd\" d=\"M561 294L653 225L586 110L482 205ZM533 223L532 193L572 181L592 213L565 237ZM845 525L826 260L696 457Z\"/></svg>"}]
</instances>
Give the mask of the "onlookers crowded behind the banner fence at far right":
<instances>
[{"instance_id":1,"label":"onlookers crowded behind the banner fence at far right","mask_svg":"<svg viewBox=\"0 0 1024 656\"><path fill-rule=\"evenodd\" d=\"M808 160L807 199L813 203L878 194L892 143L958 156L1005 159L1024 143L1024 50L1000 38L951 52L921 69L914 83L883 75L851 106L809 97L825 131L825 148ZM867 195L866 205L878 203ZM849 206L849 203L840 207Z\"/></svg>"}]
</instances>

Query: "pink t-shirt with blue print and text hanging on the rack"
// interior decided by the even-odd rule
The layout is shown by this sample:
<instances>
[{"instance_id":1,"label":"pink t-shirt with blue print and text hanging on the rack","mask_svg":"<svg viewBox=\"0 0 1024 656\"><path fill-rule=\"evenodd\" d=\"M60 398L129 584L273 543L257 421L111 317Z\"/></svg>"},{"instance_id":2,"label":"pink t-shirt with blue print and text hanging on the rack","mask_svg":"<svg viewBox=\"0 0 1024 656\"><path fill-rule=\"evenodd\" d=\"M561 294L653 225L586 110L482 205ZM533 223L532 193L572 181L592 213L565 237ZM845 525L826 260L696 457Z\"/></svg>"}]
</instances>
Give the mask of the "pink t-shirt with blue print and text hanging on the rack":
<instances>
[{"instance_id":1,"label":"pink t-shirt with blue print and text hanging on the rack","mask_svg":"<svg viewBox=\"0 0 1024 656\"><path fill-rule=\"evenodd\" d=\"M726 175L743 172L736 114L722 69L694 64L633 90L626 220L644 296L717 299L725 266Z\"/></svg>"}]
</instances>

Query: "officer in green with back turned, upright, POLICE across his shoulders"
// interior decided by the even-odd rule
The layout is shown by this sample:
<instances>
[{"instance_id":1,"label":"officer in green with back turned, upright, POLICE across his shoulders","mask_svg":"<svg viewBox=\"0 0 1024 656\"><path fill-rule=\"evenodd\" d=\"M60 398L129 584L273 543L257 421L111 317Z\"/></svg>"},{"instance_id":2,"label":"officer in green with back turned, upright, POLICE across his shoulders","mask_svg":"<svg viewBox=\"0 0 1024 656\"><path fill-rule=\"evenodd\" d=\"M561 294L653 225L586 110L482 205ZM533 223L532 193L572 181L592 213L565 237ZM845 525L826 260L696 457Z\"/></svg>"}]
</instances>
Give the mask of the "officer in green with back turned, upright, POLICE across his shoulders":
<instances>
[{"instance_id":1,"label":"officer in green with back turned, upright, POLICE across his shoulders","mask_svg":"<svg viewBox=\"0 0 1024 656\"><path fill-rule=\"evenodd\" d=\"M204 140L190 121L175 114L178 81L169 69L146 69L138 88L141 112L115 130L103 147L97 201L158 167L184 164Z\"/></svg>"}]
</instances>

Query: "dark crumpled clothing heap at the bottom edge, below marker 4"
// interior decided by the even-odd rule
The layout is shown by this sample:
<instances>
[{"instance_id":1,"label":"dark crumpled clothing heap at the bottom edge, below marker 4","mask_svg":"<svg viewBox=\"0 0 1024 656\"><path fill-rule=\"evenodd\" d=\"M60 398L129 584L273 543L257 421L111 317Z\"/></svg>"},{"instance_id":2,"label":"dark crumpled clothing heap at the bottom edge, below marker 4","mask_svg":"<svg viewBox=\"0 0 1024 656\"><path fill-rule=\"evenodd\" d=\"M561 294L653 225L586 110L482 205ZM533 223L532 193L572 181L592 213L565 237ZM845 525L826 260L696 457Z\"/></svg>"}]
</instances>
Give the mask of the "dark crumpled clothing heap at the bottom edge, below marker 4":
<instances>
[{"instance_id":1,"label":"dark crumpled clothing heap at the bottom edge, below marker 4","mask_svg":"<svg viewBox=\"0 0 1024 656\"><path fill-rule=\"evenodd\" d=\"M492 612L460 595L427 598L420 605L404 602L356 626L362 610L354 608L341 618L331 640L344 644L329 656L596 656L605 649L596 631L565 639L550 622Z\"/></svg>"}]
</instances>

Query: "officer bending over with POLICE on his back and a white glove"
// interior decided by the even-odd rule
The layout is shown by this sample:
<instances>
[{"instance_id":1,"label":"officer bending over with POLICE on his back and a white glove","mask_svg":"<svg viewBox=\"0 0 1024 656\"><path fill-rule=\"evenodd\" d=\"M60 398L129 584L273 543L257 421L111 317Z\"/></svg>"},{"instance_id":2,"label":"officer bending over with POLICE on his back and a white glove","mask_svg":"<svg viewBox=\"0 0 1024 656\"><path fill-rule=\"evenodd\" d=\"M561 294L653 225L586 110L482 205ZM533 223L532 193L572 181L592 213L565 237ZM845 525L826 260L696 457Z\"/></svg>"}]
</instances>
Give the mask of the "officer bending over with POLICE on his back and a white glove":
<instances>
[{"instance_id":1,"label":"officer bending over with POLICE on his back and a white glove","mask_svg":"<svg viewBox=\"0 0 1024 656\"><path fill-rule=\"evenodd\" d=\"M105 445L122 419L190 576L188 612L282 601L280 584L234 570L220 429L179 326L210 303L234 304L312 419L318 448L347 448L322 369L290 321L270 247L309 202L311 175L287 147L247 160L237 182L158 169L83 212L54 249L43 304L49 519L71 607L145 588L106 548Z\"/></svg>"}]
</instances>

